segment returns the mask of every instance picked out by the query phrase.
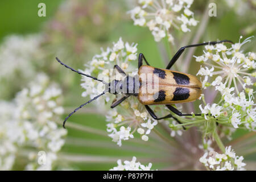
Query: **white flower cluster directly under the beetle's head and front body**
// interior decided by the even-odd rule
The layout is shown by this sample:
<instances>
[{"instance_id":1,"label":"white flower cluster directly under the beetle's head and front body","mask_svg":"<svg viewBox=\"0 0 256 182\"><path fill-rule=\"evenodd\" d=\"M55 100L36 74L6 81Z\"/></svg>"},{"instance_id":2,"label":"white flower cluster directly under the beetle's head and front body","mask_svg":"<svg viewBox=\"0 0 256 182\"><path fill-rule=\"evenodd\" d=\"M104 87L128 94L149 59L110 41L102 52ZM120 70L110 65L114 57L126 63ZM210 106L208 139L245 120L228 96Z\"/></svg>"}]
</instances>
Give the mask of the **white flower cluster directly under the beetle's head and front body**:
<instances>
[{"instance_id":1,"label":"white flower cluster directly under the beetle's head and front body","mask_svg":"<svg viewBox=\"0 0 256 182\"><path fill-rule=\"evenodd\" d=\"M131 62L137 60L137 44L124 43L122 38L117 43L113 43L113 47L108 47L106 51L102 49L100 55L93 57L92 61L89 61L85 66L87 67L84 73L103 79L106 82L112 80L113 67L115 64L119 65L127 74L134 76L137 74L138 69L135 69ZM115 73L118 74L117 71ZM119 76L121 76L119 74ZM110 77L110 79L109 79ZM118 75L115 75L117 78ZM82 76L82 88L85 92L82 96L90 96L93 98L102 93L105 89L105 85L101 82L92 80L91 78ZM111 97L111 98L110 98ZM120 98L121 96L117 96ZM104 98L104 100L102 100ZM98 106L109 106L109 101L114 100L113 94L106 93L101 99L96 102L100 102ZM104 104L103 104L104 103ZM122 102L121 105L115 107L108 112L106 116L107 131L110 133L109 137L117 142L119 146L122 144L122 140L128 140L133 138L135 131L141 135L142 140L148 140L148 134L157 124L148 114L143 105L139 104L138 100L129 97Z\"/></svg>"}]
</instances>

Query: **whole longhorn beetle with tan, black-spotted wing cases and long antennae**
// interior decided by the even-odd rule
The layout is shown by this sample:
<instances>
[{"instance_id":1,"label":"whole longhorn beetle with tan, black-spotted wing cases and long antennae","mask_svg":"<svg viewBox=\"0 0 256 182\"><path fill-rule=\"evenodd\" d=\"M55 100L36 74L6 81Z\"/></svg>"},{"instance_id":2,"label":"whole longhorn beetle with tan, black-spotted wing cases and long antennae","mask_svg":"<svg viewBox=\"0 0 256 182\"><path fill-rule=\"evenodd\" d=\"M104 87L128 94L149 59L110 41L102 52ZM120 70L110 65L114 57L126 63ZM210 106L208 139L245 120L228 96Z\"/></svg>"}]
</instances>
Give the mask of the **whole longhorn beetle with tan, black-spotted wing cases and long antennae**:
<instances>
[{"instance_id":1,"label":"whole longhorn beetle with tan, black-spotted wing cases and long antennae","mask_svg":"<svg viewBox=\"0 0 256 182\"><path fill-rule=\"evenodd\" d=\"M79 73L80 75L84 75L86 77L90 77L93 80L100 81L106 85L106 89L104 92L99 94L98 96L94 97L92 100L89 100L85 104L82 104L81 106L77 107L72 113L68 115L68 117L65 118L63 122L63 127L65 128L65 122L69 117L71 117L72 114L74 114L77 110L79 110L81 107L85 106L86 104L89 104L90 102L96 100L98 97L101 97L105 93L113 93L113 94L123 94L123 96L119 100L113 101L111 108L114 108L121 104L126 98L130 96L138 97L139 102L143 104L148 113L151 115L152 118L156 120L160 119L166 119L166 118L174 118L177 122L179 120L175 118L172 114L168 114L164 117L157 117L154 111L150 108L149 105L166 105L166 107L172 111L172 113L175 113L179 116L191 116L192 114L183 114L179 110L177 110L175 107L171 106L171 104L178 104L178 103L185 103L185 102L192 102L197 100L197 98L201 95L201 82L192 75L176 72L176 71L170 71L170 68L172 65L175 64L177 59L179 59L181 53L184 52L185 48L189 47L197 47L197 46L206 46L206 45L215 45L218 43L233 43L230 40L221 40L218 42L207 42L207 43L200 43L200 44L192 44L189 46L184 46L179 49L172 57L170 63L167 65L166 69L159 69L151 67L150 64L148 64L148 61L144 57L142 53L139 54L138 58L138 77L139 80L136 81L135 77L127 76L126 73L118 66L114 65L114 69L116 69L119 73L122 75L125 75L125 82L113 80L109 83L106 83L103 80L100 80L96 77L86 75L80 71L76 71L75 69L69 67L68 65L62 63L57 57L56 60L61 64L64 65L66 68L71 69L73 72ZM146 62L147 65L142 65L143 60ZM141 90L148 86L154 84L152 81L143 81L141 79L142 74L148 74L151 73L152 75L157 75L159 77L158 82L158 92L156 93L142 93ZM127 88L127 90L131 90L131 92L123 93L120 91L119 88ZM110 92L112 90L112 92ZM157 97L155 97L157 96ZM195 114L195 115L201 115L201 114ZM180 122L179 122L180 123ZM183 127L183 129L185 129Z\"/></svg>"}]
</instances>

